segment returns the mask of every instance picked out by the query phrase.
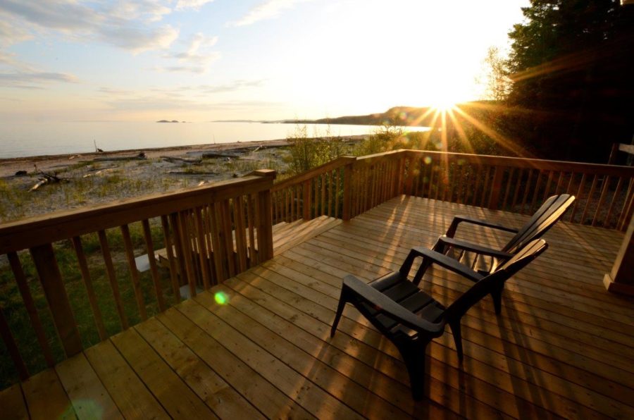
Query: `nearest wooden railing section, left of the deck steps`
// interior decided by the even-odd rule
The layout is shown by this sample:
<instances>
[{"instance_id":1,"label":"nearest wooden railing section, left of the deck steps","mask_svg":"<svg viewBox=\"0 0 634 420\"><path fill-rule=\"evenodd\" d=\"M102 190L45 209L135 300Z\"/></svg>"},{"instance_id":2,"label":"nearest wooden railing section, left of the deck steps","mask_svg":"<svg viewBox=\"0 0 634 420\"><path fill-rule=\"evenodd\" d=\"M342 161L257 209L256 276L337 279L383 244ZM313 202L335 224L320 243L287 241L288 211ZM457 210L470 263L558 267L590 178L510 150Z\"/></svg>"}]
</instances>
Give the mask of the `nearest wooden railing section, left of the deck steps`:
<instances>
[{"instance_id":1,"label":"nearest wooden railing section, left of the deck steps","mask_svg":"<svg viewBox=\"0 0 634 420\"><path fill-rule=\"evenodd\" d=\"M256 171L0 226L0 333L18 376L164 311L180 302L182 285L195 296L273 257L274 178ZM168 271L159 270L159 247Z\"/></svg>"}]
</instances>

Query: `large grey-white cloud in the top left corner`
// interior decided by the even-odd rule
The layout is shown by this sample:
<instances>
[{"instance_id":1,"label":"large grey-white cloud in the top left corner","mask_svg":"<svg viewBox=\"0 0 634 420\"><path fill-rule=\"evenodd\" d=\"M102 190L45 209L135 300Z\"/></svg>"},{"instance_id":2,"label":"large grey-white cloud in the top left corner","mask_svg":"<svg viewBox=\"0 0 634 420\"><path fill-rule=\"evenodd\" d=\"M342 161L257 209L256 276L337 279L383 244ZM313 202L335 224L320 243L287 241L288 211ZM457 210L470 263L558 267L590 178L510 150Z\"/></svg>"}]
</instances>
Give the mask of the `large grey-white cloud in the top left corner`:
<instances>
[{"instance_id":1,"label":"large grey-white cloud in the top left corner","mask_svg":"<svg viewBox=\"0 0 634 420\"><path fill-rule=\"evenodd\" d=\"M2 0L0 13L29 27L30 32L49 30L82 40L92 37L135 54L168 48L178 38L178 30L170 25L155 24L171 12L161 1L90 4L92 7L74 0Z\"/></svg>"}]
</instances>

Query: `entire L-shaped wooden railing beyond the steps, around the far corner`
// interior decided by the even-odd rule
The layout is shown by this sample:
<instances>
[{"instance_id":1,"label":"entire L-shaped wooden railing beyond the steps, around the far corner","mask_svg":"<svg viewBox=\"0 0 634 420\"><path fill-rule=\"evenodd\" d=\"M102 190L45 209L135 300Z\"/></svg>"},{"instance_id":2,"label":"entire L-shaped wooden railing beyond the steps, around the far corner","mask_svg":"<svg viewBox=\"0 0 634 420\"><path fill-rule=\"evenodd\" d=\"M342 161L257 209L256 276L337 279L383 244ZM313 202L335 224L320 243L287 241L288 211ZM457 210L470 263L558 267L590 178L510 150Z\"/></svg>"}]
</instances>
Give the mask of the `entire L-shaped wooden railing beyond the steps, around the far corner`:
<instances>
[{"instance_id":1,"label":"entire L-shaped wooden railing beyond the steps, around the far corner","mask_svg":"<svg viewBox=\"0 0 634 420\"><path fill-rule=\"evenodd\" d=\"M413 150L344 156L276 184L273 221L348 220L397 194L532 214L564 192L577 197L568 221L624 230L634 211L634 168Z\"/></svg>"}]
</instances>

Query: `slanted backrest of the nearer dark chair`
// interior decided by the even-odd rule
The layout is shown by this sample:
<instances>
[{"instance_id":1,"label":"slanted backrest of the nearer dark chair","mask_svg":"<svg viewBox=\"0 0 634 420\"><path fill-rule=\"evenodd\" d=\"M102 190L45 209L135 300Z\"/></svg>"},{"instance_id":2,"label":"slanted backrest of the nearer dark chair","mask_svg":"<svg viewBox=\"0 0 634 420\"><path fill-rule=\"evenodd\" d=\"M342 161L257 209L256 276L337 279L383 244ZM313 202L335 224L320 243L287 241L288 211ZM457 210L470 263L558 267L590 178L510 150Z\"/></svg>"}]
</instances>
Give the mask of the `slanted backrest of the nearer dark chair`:
<instances>
[{"instance_id":1,"label":"slanted backrest of the nearer dark chair","mask_svg":"<svg viewBox=\"0 0 634 420\"><path fill-rule=\"evenodd\" d=\"M526 265L537 258L548 248L548 244L543 239L536 239L528 242L509 261L504 262L485 278L475 283L469 290L464 292L447 307L445 316L447 319L459 318L463 316L469 308L478 303L480 299L488 295L495 288L501 288L504 282L511 278Z\"/></svg>"}]
</instances>

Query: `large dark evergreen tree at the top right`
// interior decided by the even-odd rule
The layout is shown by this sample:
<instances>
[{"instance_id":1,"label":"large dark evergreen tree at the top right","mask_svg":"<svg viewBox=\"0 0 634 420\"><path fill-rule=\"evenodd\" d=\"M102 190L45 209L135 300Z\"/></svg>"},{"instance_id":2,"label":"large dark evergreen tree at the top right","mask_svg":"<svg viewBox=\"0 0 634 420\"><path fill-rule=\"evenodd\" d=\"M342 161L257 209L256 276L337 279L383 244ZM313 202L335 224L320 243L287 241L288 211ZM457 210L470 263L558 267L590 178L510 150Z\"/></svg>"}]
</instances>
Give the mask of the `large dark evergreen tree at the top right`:
<instances>
[{"instance_id":1,"label":"large dark evergreen tree at the top right","mask_svg":"<svg viewBox=\"0 0 634 420\"><path fill-rule=\"evenodd\" d=\"M507 66L516 137L554 159L606 161L634 134L634 6L531 0Z\"/></svg>"}]
</instances>

